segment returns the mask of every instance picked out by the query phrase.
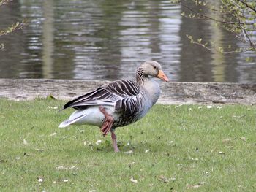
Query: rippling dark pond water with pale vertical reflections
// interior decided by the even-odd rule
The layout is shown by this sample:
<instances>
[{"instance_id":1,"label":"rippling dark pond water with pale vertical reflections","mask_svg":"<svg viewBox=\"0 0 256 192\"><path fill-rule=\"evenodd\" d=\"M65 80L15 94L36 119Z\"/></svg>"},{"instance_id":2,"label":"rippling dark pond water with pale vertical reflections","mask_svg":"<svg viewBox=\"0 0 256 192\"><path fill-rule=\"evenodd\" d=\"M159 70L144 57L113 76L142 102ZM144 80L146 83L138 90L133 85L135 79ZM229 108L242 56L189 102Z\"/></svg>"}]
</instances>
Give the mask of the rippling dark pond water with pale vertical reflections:
<instances>
[{"instance_id":1,"label":"rippling dark pond water with pale vertical reflections","mask_svg":"<svg viewBox=\"0 0 256 192\"><path fill-rule=\"evenodd\" d=\"M130 79L143 61L156 60L173 81L256 82L255 53L192 45L186 34L219 46L240 42L211 21L181 17L186 11L169 0L12 1L0 7L0 28L28 23L0 37L0 77Z\"/></svg>"}]
</instances>

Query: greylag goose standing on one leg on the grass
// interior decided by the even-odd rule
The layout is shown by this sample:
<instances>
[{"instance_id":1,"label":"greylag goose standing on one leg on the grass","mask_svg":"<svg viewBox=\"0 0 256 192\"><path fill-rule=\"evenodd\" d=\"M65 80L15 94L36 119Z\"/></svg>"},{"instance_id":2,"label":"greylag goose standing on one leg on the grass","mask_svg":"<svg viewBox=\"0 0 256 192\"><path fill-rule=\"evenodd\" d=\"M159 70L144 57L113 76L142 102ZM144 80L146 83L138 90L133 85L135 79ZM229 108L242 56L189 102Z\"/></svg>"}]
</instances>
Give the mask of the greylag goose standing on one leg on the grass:
<instances>
[{"instance_id":1,"label":"greylag goose standing on one leg on the grass","mask_svg":"<svg viewBox=\"0 0 256 192\"><path fill-rule=\"evenodd\" d=\"M159 84L151 77L169 81L157 61L146 61L137 69L136 81L110 82L67 102L63 110L72 107L75 112L59 128L82 124L99 126L103 136L111 132L114 151L118 152L115 129L143 118L159 99Z\"/></svg>"}]
</instances>

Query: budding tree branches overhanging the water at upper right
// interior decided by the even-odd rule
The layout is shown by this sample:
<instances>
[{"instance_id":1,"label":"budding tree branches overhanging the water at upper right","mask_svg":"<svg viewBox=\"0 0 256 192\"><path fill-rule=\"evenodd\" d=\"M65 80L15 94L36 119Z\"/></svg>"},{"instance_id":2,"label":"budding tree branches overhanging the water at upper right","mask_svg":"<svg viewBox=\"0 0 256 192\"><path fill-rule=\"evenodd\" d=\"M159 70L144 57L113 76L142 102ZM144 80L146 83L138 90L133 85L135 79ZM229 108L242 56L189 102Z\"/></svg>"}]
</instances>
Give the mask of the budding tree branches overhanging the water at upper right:
<instances>
[{"instance_id":1,"label":"budding tree branches overhanging the water at upper right","mask_svg":"<svg viewBox=\"0 0 256 192\"><path fill-rule=\"evenodd\" d=\"M206 6L206 4L203 3L199 4L197 0L192 1L197 7L199 7L199 10L189 7L189 5L186 4L186 1L185 3L181 2L181 6L184 6L189 10L186 15L184 12L181 15L187 18L213 20L216 23L222 23L222 25L219 26L224 28L226 31L236 34L236 37L238 37L241 42L244 42L246 47L239 48L238 50L232 50L230 45L228 47L215 47L214 42L211 42L211 45L208 45L207 42L202 43L202 39L197 39L197 41L195 41L192 36L187 35L191 40L191 43L200 45L201 47L206 48L206 50L223 54L256 51L256 42L252 37L256 31L255 22L252 21L255 21L256 13L256 7L254 8L254 4L250 4L249 2L247 3L245 0L222 1L222 4L219 5L219 9L216 9L214 6ZM206 11L213 13L213 15L208 15L202 7L205 8ZM220 16L215 18L217 15Z\"/></svg>"}]
</instances>

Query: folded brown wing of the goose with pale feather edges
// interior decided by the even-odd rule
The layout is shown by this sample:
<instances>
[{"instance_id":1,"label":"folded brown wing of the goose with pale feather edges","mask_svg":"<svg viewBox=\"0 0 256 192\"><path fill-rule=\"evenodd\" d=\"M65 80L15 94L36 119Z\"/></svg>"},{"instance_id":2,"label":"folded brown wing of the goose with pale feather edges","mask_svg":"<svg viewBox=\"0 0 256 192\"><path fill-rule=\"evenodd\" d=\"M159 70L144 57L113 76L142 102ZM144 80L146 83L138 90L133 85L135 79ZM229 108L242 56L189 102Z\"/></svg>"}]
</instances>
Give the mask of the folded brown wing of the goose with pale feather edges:
<instances>
[{"instance_id":1,"label":"folded brown wing of the goose with pale feather edges","mask_svg":"<svg viewBox=\"0 0 256 192\"><path fill-rule=\"evenodd\" d=\"M120 108L124 100L127 102L129 99L138 96L139 93L140 86L136 82L132 80L118 80L67 102L67 104L64 105L64 109L68 107L73 107L76 110L86 109L91 105L116 106L117 103L118 108Z\"/></svg>"}]
</instances>

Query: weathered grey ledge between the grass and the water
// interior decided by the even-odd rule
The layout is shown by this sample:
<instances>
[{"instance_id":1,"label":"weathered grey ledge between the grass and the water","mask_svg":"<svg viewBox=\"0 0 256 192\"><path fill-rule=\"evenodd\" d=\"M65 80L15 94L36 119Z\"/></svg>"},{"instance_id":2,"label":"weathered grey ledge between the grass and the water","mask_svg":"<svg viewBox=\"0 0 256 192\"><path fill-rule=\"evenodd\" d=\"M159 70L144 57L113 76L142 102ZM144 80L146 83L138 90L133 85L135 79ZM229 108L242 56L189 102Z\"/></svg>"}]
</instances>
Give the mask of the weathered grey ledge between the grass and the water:
<instances>
[{"instance_id":1,"label":"weathered grey ledge between the grass and the water","mask_svg":"<svg viewBox=\"0 0 256 192\"><path fill-rule=\"evenodd\" d=\"M69 100L108 81L0 79L0 98ZM162 104L256 104L256 84L219 82L162 82Z\"/></svg>"}]
</instances>

